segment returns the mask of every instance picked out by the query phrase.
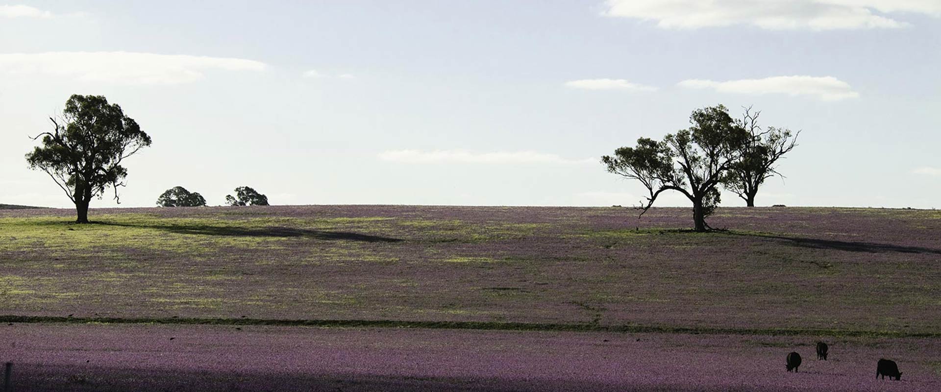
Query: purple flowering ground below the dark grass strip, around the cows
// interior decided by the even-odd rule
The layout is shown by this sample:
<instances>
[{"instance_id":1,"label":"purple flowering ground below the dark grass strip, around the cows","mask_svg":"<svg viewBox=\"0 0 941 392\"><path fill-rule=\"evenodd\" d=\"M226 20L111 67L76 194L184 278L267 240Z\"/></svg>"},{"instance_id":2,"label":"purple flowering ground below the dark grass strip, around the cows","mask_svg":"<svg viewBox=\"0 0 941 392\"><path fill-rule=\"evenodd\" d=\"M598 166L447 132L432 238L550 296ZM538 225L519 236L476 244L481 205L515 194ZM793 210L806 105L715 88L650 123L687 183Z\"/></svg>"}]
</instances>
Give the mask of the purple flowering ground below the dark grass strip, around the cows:
<instances>
[{"instance_id":1,"label":"purple flowering ground below the dark grass strip, around the cows","mask_svg":"<svg viewBox=\"0 0 941 392\"><path fill-rule=\"evenodd\" d=\"M0 326L17 391L937 391L941 342L247 326ZM790 351L804 356L785 370ZM899 382L875 380L895 359Z\"/></svg>"}]
</instances>

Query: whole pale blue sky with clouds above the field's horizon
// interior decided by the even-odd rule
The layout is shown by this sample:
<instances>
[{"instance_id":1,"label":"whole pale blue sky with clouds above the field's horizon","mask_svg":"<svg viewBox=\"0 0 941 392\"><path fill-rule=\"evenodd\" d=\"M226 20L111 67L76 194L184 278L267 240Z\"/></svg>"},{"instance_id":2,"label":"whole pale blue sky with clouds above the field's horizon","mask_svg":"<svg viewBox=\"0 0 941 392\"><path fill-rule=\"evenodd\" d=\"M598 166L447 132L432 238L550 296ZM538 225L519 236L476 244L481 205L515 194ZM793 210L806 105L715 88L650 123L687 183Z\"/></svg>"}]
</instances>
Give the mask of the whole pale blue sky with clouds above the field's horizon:
<instances>
[{"instance_id":1,"label":"whole pale blue sky with clouds above the field's horizon","mask_svg":"<svg viewBox=\"0 0 941 392\"><path fill-rule=\"evenodd\" d=\"M939 0L2 1L0 203L71 207L24 154L94 94L153 140L121 207L632 206L600 156L722 103L801 131L759 206L941 208Z\"/></svg>"}]
</instances>

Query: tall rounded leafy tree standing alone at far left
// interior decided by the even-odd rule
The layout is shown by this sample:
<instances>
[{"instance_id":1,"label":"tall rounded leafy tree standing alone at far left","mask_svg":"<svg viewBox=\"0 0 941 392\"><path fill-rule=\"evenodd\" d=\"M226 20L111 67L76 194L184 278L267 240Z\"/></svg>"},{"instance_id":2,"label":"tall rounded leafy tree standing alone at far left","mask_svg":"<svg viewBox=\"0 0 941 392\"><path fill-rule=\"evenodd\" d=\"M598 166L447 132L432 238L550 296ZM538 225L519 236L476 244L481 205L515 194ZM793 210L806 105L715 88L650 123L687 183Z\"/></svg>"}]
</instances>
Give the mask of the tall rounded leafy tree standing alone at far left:
<instances>
[{"instance_id":1,"label":"tall rounded leafy tree standing alone at far left","mask_svg":"<svg viewBox=\"0 0 941 392\"><path fill-rule=\"evenodd\" d=\"M72 95L61 118L49 118L53 131L40 133L42 147L26 154L32 169L40 169L56 181L75 204L77 223L88 223L88 204L111 187L120 203L118 187L124 186L127 169L121 162L151 145L151 136L140 130L134 118L124 116L118 104L103 96Z\"/></svg>"}]
</instances>

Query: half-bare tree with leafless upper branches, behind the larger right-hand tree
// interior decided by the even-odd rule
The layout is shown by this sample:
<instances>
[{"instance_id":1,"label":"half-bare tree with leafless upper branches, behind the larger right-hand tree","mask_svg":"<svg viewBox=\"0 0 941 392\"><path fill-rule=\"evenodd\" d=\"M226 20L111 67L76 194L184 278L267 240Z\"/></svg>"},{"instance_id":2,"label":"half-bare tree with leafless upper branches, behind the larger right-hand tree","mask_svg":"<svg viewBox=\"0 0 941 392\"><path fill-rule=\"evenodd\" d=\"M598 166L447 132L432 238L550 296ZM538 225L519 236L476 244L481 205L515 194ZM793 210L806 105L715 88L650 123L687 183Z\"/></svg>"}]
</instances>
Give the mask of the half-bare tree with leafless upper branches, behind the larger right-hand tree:
<instances>
[{"instance_id":1,"label":"half-bare tree with leafless upper branches, behind the larger right-hand tree","mask_svg":"<svg viewBox=\"0 0 941 392\"><path fill-rule=\"evenodd\" d=\"M774 127L762 131L758 126L760 115L761 112L753 113L747 107L742 118L736 121L750 137L742 143L739 160L729 167L722 180L726 189L742 197L748 207L755 207L755 196L764 180L774 175L784 177L777 172L777 160L797 147L797 136L800 134Z\"/></svg>"}]
</instances>

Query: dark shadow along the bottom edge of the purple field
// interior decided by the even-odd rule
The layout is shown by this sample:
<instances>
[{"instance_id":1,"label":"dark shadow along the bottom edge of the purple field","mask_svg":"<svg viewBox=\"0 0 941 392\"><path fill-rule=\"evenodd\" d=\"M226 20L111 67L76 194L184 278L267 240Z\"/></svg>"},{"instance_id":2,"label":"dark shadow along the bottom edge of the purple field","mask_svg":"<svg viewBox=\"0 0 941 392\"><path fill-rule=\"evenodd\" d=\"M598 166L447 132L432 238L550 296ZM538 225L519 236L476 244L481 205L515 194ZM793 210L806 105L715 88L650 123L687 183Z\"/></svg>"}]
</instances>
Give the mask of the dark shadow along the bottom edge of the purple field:
<instances>
[{"instance_id":1,"label":"dark shadow along the bottom edge of the purple field","mask_svg":"<svg viewBox=\"0 0 941 392\"><path fill-rule=\"evenodd\" d=\"M95 362L98 362L97 358ZM84 361L82 361L84 362ZM327 362L328 364L328 362ZM123 392L123 391L342 391L342 392L563 392L589 390L622 392L630 385L621 381L582 381L578 379L526 380L497 376L433 376L404 374L368 374L365 372L324 372L185 368L169 363L159 368L111 368L88 364L45 365L17 363L11 389L17 392ZM263 364L266 365L266 364ZM324 367L321 365L321 367ZM431 372L432 369L428 369ZM678 385L679 386L679 385ZM692 391L679 387L668 390ZM726 389L735 390L735 389ZM747 389L753 390L753 389Z\"/></svg>"}]
</instances>

